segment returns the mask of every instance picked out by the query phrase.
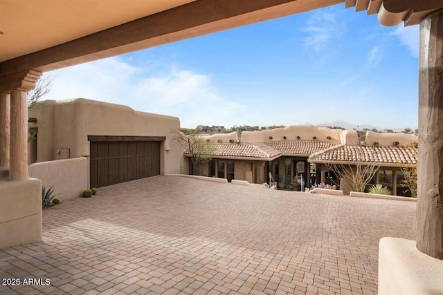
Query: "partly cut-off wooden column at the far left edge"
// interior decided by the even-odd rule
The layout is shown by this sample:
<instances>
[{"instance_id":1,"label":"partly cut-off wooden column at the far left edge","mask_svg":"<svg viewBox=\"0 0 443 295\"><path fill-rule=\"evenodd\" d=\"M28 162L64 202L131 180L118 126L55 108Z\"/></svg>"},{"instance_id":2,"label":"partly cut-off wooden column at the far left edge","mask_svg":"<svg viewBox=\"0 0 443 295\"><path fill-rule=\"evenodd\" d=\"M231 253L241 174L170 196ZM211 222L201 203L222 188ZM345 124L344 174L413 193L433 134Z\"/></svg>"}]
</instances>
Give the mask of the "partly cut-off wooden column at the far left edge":
<instances>
[{"instance_id":1,"label":"partly cut-off wooden column at the far left edge","mask_svg":"<svg viewBox=\"0 0 443 295\"><path fill-rule=\"evenodd\" d=\"M0 93L0 166L9 166L10 137L9 93Z\"/></svg>"}]
</instances>

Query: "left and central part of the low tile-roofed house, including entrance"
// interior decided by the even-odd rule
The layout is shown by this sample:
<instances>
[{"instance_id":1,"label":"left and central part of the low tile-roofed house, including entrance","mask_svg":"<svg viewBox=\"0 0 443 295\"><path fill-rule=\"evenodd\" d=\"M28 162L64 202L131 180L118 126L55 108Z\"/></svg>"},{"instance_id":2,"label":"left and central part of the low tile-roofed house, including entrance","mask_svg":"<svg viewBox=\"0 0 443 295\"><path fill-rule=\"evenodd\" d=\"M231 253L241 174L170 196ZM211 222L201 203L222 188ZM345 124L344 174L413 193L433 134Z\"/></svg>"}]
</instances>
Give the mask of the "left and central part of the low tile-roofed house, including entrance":
<instances>
[{"instance_id":1,"label":"left and central part of the low tile-roofed house, including entrance","mask_svg":"<svg viewBox=\"0 0 443 295\"><path fill-rule=\"evenodd\" d=\"M237 133L204 136L202 140L215 142L210 162L201 163L201 175L247 180L253 183L269 182L269 173L275 182L282 178L289 189L294 177L301 189L316 182L316 166L307 158L312 153L356 140L355 131L342 131L310 125L289 126L264 131L245 131L241 140ZM190 157L190 153L186 153Z\"/></svg>"}]
</instances>

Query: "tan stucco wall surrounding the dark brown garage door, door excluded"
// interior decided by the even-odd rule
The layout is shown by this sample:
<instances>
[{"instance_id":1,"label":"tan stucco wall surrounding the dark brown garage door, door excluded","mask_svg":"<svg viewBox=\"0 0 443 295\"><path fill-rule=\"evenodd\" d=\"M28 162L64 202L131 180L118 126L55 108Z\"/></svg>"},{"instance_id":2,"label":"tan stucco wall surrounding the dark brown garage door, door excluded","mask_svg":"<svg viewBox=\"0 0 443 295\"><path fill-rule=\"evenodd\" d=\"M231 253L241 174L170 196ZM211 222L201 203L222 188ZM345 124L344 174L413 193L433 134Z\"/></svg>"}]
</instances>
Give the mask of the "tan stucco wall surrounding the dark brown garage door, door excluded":
<instances>
[{"instance_id":1,"label":"tan stucco wall surrounding the dark brown garage door, door excluded","mask_svg":"<svg viewBox=\"0 0 443 295\"><path fill-rule=\"evenodd\" d=\"M29 111L37 117L37 162L57 159L57 150L69 149L69 158L89 156L88 135L165 136L161 144L161 174L187 168L179 144L173 140L180 128L177 117L134 111L128 106L73 99L44 101ZM169 148L169 151L166 149Z\"/></svg>"}]
</instances>

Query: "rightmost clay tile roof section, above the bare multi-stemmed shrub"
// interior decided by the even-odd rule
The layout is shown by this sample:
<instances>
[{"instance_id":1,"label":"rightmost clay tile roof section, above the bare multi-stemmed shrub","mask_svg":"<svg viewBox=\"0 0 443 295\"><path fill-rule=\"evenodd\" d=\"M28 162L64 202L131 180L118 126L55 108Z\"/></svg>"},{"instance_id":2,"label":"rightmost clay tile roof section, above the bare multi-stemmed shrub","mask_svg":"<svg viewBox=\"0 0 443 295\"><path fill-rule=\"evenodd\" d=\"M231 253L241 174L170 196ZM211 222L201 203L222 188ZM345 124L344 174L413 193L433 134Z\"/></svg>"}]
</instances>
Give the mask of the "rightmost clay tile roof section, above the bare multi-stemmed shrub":
<instances>
[{"instance_id":1,"label":"rightmost clay tile roof section, above the bare multi-stemmed shrub","mask_svg":"<svg viewBox=\"0 0 443 295\"><path fill-rule=\"evenodd\" d=\"M417 147L413 146L334 146L314 153L309 162L376 162L387 166L417 164Z\"/></svg>"}]
</instances>

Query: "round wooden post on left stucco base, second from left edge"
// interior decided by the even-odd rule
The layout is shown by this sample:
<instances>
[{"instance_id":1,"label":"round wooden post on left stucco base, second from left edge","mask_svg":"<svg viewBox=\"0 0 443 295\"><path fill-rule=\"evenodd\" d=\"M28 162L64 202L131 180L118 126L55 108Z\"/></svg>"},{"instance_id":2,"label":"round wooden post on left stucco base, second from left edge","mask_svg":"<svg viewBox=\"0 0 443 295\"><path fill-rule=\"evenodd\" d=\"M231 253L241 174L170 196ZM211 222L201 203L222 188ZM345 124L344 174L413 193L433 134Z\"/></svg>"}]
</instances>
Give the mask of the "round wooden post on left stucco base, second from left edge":
<instances>
[{"instance_id":1,"label":"round wooden post on left stucco base, second from left edge","mask_svg":"<svg viewBox=\"0 0 443 295\"><path fill-rule=\"evenodd\" d=\"M28 100L26 91L10 91L10 180L28 177Z\"/></svg>"}]
</instances>

